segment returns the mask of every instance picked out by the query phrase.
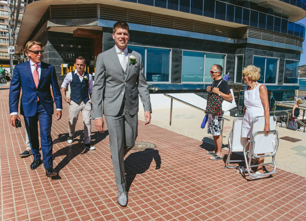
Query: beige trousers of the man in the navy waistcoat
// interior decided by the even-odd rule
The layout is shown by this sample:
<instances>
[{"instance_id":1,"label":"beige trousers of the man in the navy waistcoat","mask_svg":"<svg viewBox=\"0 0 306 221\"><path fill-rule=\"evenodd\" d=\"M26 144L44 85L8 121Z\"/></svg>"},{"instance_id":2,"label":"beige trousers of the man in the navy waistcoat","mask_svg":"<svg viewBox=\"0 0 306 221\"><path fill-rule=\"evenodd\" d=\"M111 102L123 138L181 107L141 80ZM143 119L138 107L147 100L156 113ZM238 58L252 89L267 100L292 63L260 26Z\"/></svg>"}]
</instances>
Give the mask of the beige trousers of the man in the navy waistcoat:
<instances>
[{"instance_id":1,"label":"beige trousers of the man in the navy waistcoat","mask_svg":"<svg viewBox=\"0 0 306 221\"><path fill-rule=\"evenodd\" d=\"M80 111L82 112L83 122L84 122L84 143L90 143L90 134L91 134L91 103L88 101L86 104L81 101L75 103L70 102L69 105L69 136L73 136L76 128L76 122L79 117Z\"/></svg>"}]
</instances>

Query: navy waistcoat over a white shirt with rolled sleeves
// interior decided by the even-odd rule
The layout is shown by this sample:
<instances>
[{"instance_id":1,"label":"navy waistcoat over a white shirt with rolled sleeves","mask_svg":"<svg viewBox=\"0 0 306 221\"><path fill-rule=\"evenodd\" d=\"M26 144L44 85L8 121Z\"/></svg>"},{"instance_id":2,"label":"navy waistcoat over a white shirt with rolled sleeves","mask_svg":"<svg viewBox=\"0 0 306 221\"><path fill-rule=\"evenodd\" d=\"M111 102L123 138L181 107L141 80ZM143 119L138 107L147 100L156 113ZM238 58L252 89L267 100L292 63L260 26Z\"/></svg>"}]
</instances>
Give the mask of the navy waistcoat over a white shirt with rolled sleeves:
<instances>
[{"instance_id":1,"label":"navy waistcoat over a white shirt with rolled sleeves","mask_svg":"<svg viewBox=\"0 0 306 221\"><path fill-rule=\"evenodd\" d=\"M89 80L89 74L84 71L84 77L87 76ZM75 103L79 103L80 100L83 100L84 103L89 101L88 95L88 81L80 81L79 75L72 73L72 81L70 82L70 100L73 100Z\"/></svg>"}]
</instances>

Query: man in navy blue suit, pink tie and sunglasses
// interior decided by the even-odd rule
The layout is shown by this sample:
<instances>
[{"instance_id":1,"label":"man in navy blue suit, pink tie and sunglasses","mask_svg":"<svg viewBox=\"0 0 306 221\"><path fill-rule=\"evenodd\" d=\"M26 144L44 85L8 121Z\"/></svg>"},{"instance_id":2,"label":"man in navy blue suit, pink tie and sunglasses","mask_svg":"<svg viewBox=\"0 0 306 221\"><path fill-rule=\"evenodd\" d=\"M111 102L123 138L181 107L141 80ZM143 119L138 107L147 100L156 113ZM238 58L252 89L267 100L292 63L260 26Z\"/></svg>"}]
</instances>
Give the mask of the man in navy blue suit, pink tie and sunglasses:
<instances>
[{"instance_id":1,"label":"man in navy blue suit, pink tie and sunglasses","mask_svg":"<svg viewBox=\"0 0 306 221\"><path fill-rule=\"evenodd\" d=\"M56 176L57 173L53 169L52 161L51 125L54 110L50 85L52 86L54 102L57 108L56 120L62 117L61 90L58 86L54 67L41 62L43 59L43 44L29 41L25 45L24 51L29 61L15 66L9 88L10 123L15 126L15 121L20 120L18 103L22 89L20 114L24 116L24 123L34 156L34 161L30 167L31 169L36 169L41 164L37 124L39 121L40 143L46 176Z\"/></svg>"}]
</instances>

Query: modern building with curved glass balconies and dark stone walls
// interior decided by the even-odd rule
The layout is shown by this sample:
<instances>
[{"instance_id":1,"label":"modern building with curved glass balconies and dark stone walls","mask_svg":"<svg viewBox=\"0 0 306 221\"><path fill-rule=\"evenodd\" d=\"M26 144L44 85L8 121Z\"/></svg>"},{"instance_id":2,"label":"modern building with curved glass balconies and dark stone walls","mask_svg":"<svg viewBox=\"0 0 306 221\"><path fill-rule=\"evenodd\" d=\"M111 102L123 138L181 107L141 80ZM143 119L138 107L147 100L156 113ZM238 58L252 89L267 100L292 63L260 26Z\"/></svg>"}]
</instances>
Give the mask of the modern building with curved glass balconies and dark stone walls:
<instances>
[{"instance_id":1,"label":"modern building with curved glass balconies and dark stone walls","mask_svg":"<svg viewBox=\"0 0 306 221\"><path fill-rule=\"evenodd\" d=\"M124 20L129 47L143 57L149 88L205 97L212 82L209 70L220 64L239 103L231 114L238 115L241 70L249 64L260 67L259 82L267 86L271 106L274 99L294 98L305 36L297 21L306 16L305 9L306 0L40 0L25 7L17 45L43 42L44 61L60 75L62 63L73 65L81 55L91 66L95 56L112 48L113 24Z\"/></svg>"}]
</instances>

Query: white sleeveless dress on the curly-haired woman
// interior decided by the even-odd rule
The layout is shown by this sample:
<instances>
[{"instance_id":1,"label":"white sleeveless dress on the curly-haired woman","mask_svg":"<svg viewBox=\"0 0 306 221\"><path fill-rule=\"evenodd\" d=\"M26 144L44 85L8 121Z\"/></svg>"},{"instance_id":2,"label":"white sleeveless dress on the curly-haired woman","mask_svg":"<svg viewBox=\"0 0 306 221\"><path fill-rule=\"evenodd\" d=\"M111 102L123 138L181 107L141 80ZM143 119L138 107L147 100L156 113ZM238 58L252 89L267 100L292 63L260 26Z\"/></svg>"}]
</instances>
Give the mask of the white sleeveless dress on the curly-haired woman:
<instances>
[{"instance_id":1,"label":"white sleeveless dress on the curly-haired woman","mask_svg":"<svg viewBox=\"0 0 306 221\"><path fill-rule=\"evenodd\" d=\"M244 106L246 107L245 114L242 120L241 137L250 138L252 120L255 116L263 116L264 109L259 97L259 86L257 82L253 90L248 90L248 86L244 88Z\"/></svg>"}]
</instances>

